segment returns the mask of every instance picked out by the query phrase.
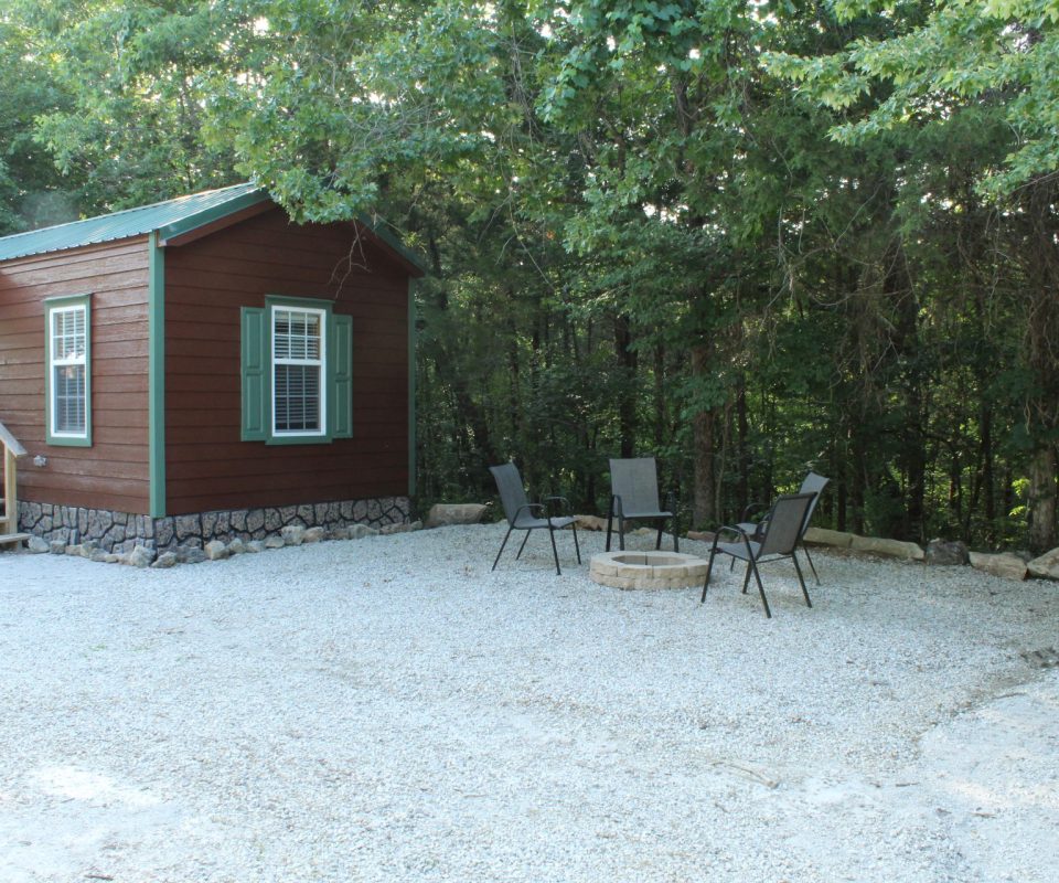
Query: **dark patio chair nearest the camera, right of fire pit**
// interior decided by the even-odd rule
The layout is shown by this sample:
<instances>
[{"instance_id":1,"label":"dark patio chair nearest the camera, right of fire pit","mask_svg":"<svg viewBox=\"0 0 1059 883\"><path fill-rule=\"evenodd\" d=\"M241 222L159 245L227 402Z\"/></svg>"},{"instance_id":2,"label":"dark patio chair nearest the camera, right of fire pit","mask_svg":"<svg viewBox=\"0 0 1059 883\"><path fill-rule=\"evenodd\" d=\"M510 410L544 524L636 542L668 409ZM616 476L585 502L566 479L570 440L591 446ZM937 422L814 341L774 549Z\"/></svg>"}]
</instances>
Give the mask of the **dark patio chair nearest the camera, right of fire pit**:
<instances>
[{"instance_id":1,"label":"dark patio chair nearest the camera, right of fire pit","mask_svg":"<svg viewBox=\"0 0 1059 883\"><path fill-rule=\"evenodd\" d=\"M761 574L758 573L759 564L768 564L782 558L790 558L794 562L794 571L798 573L798 582L802 587L802 594L805 596L805 604L812 607L813 603L809 599L809 589L805 587L805 579L802 577L802 568L798 564L796 551L805 524L805 513L813 504L816 496L815 493L788 493L777 498L768 518L761 522L761 525L755 525L759 528L757 533L748 533L735 525L720 528L714 534L714 544L709 550L702 602L706 600L709 574L714 568L714 557L719 553L731 555L732 563L736 558L747 563L747 573L742 577L742 594L747 594L747 586L750 584L752 572L753 578L758 582L761 603L764 605L764 615L770 619L772 618L772 611L769 609L769 599L764 596L764 586L761 585ZM736 541L720 542L720 535L725 531L732 533L737 538Z\"/></svg>"}]
</instances>

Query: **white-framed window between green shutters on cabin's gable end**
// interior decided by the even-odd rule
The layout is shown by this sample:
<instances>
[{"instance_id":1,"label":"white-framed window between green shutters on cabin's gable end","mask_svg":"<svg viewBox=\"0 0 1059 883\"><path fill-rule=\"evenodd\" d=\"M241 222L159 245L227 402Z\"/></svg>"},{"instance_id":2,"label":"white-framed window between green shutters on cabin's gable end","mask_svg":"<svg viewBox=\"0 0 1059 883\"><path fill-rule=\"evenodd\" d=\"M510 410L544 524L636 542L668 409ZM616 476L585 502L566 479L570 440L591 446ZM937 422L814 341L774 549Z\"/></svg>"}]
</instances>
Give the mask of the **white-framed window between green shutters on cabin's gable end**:
<instances>
[{"instance_id":1,"label":"white-framed window between green shutters on cabin's gable end","mask_svg":"<svg viewBox=\"0 0 1059 883\"><path fill-rule=\"evenodd\" d=\"M272 436L327 433L327 311L271 307Z\"/></svg>"}]
</instances>

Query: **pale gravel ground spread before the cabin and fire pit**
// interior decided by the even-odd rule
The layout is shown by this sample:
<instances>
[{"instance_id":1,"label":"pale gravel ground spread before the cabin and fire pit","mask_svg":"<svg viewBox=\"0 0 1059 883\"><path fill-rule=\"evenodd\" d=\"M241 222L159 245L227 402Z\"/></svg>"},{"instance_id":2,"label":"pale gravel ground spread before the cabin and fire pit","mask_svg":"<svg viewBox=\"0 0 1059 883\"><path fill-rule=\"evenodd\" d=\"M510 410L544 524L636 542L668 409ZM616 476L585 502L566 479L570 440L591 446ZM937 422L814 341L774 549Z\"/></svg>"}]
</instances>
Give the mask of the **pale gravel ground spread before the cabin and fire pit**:
<instances>
[{"instance_id":1,"label":"pale gravel ground spread before the cabin and fire pit","mask_svg":"<svg viewBox=\"0 0 1059 883\"><path fill-rule=\"evenodd\" d=\"M1059 877L1056 584L820 552L768 620L502 535L0 555L0 881Z\"/></svg>"}]
</instances>

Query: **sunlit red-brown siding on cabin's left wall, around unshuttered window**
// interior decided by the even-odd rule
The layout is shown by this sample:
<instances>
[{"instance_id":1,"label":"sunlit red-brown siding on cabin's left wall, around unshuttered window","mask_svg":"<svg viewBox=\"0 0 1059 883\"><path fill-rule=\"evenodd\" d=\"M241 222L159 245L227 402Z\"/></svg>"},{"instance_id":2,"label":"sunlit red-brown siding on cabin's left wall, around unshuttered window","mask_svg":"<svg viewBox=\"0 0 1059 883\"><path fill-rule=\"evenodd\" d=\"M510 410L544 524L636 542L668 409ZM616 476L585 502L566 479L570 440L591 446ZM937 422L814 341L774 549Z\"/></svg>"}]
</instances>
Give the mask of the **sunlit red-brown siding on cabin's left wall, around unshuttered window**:
<instances>
[{"instance_id":1,"label":"sunlit red-brown siding on cabin's left wall, around unshuttered window","mask_svg":"<svg viewBox=\"0 0 1059 883\"><path fill-rule=\"evenodd\" d=\"M147 286L142 236L0 265L0 419L29 453L19 499L147 514ZM47 445L44 299L83 294L92 295L92 447Z\"/></svg>"}]
</instances>

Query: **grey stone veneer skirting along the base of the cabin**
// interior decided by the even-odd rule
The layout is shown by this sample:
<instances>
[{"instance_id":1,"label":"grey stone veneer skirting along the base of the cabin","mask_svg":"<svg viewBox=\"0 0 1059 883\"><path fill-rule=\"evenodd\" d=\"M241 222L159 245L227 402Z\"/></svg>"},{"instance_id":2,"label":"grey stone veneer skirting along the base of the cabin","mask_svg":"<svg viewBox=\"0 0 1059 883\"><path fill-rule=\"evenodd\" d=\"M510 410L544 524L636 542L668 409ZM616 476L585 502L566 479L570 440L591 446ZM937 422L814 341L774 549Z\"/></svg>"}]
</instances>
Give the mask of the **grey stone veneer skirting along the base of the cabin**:
<instances>
[{"instance_id":1,"label":"grey stone veneer skirting along the base of the cabin","mask_svg":"<svg viewBox=\"0 0 1059 883\"><path fill-rule=\"evenodd\" d=\"M287 526L323 528L336 533L353 524L379 529L387 524L406 524L410 517L411 501L407 497L234 509L168 518L109 509L19 503L20 530L64 545L93 540L97 549L118 554L130 552L138 545L163 552L176 546L201 549L213 540L265 540L278 536Z\"/></svg>"}]
</instances>

